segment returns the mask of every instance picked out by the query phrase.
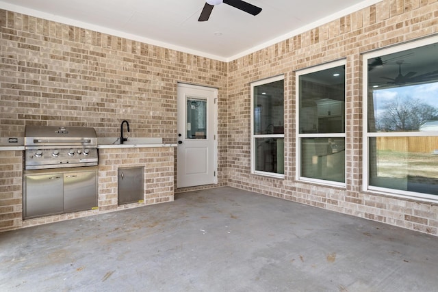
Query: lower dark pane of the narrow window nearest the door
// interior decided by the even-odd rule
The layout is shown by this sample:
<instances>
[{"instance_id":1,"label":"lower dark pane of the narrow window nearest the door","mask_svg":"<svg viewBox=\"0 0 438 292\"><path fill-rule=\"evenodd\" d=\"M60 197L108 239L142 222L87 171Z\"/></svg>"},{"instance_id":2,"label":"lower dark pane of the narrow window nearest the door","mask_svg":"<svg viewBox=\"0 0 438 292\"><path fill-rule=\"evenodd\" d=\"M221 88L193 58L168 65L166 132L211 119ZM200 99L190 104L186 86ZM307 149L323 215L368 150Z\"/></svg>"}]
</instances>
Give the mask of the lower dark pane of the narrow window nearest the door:
<instances>
[{"instance_id":1,"label":"lower dark pane of the narrow window nearest the door","mask_svg":"<svg viewBox=\"0 0 438 292\"><path fill-rule=\"evenodd\" d=\"M255 170L285 173L283 138L256 138L255 148Z\"/></svg>"}]
</instances>

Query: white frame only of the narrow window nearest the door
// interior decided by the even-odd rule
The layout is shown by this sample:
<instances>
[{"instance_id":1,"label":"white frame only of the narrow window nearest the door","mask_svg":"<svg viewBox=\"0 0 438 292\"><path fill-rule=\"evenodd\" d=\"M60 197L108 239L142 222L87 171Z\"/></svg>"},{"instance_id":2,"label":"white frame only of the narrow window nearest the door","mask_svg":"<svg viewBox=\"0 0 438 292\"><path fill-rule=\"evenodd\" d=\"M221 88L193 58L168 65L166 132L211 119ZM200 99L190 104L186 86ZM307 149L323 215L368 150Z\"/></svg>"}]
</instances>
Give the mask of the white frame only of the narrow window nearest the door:
<instances>
[{"instance_id":1,"label":"white frame only of the narrow window nearest the door","mask_svg":"<svg viewBox=\"0 0 438 292\"><path fill-rule=\"evenodd\" d=\"M263 85L263 84L268 84L268 83L272 83L272 82L276 82L276 81L281 81L281 80L285 80L285 75L277 75L274 77L269 77L266 79L261 79L259 81L254 81L250 83L250 119L251 119L251 140L250 140L250 155L251 155L251 174L257 174L257 175L261 175L261 176L270 176L272 178L285 178L285 174L278 174L275 172L265 172L265 171L261 171L261 170L255 170L255 155L256 155L256 150L255 150L255 140L257 138L283 138L283 143L284 143L284 138L285 138L285 134L283 131L283 134L263 134L263 135L256 135L254 133L254 88L259 86L259 85ZM285 94L284 94L285 90L284 90L284 85L283 85L283 113L284 113L284 107L285 107ZM283 124L285 121L285 115L283 114ZM283 150L283 161L284 161L284 150ZM278 158L277 158L278 161Z\"/></svg>"}]
</instances>

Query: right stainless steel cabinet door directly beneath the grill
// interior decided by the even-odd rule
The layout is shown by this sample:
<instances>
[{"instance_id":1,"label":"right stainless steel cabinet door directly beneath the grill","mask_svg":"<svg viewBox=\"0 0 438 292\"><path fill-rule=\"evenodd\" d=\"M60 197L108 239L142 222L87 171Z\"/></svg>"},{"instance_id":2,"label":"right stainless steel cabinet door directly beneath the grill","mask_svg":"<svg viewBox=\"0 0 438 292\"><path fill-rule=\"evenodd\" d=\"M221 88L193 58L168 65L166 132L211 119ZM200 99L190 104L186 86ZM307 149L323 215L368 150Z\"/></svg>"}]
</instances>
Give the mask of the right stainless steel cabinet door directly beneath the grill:
<instances>
[{"instance_id":1,"label":"right stainless steel cabinet door directly beneath the grill","mask_svg":"<svg viewBox=\"0 0 438 292\"><path fill-rule=\"evenodd\" d=\"M97 207L96 172L64 174L64 212Z\"/></svg>"}]
</instances>

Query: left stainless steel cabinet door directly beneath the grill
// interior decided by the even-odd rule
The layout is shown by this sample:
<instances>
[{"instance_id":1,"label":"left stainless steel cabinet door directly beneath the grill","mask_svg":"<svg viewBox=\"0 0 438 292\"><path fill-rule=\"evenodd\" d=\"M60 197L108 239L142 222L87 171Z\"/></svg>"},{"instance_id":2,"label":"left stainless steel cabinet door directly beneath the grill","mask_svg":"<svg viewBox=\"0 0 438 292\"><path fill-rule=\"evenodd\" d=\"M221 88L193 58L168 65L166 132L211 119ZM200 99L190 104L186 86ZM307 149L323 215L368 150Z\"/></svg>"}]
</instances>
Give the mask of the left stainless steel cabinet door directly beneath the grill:
<instances>
[{"instance_id":1,"label":"left stainless steel cabinet door directly beneath the grill","mask_svg":"<svg viewBox=\"0 0 438 292\"><path fill-rule=\"evenodd\" d=\"M62 174L25 176L25 219L42 215L62 213Z\"/></svg>"}]
</instances>

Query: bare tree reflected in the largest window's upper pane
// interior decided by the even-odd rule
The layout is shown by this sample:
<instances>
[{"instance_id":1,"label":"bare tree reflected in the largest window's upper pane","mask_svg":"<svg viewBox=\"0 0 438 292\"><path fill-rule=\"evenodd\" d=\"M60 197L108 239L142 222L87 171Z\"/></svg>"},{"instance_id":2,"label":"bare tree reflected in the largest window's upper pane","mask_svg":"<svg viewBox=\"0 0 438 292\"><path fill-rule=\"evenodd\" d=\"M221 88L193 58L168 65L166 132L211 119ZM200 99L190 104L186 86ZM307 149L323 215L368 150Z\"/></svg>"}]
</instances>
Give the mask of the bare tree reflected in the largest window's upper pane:
<instances>
[{"instance_id":1,"label":"bare tree reflected in the largest window's upper pane","mask_svg":"<svg viewBox=\"0 0 438 292\"><path fill-rule=\"evenodd\" d=\"M438 108L418 98L396 97L376 117L377 131L418 131L426 120L438 120Z\"/></svg>"}]
</instances>

